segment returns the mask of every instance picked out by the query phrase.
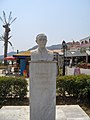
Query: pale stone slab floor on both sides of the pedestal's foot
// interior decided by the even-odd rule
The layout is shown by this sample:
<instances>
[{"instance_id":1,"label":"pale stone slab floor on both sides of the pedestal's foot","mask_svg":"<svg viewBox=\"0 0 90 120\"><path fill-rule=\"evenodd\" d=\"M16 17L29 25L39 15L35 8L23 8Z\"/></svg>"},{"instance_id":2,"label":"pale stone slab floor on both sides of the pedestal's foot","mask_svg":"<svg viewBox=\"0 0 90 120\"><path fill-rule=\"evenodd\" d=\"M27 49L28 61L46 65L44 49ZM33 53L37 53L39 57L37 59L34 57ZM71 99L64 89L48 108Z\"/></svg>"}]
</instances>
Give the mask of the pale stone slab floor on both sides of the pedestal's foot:
<instances>
[{"instance_id":1,"label":"pale stone slab floor on both sides of the pedestal's foot","mask_svg":"<svg viewBox=\"0 0 90 120\"><path fill-rule=\"evenodd\" d=\"M0 120L30 120L29 106L4 106L0 109ZM56 106L56 120L90 120L78 105Z\"/></svg>"}]
</instances>

